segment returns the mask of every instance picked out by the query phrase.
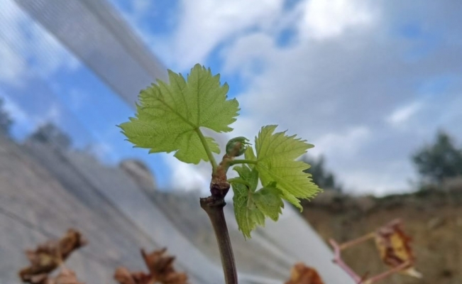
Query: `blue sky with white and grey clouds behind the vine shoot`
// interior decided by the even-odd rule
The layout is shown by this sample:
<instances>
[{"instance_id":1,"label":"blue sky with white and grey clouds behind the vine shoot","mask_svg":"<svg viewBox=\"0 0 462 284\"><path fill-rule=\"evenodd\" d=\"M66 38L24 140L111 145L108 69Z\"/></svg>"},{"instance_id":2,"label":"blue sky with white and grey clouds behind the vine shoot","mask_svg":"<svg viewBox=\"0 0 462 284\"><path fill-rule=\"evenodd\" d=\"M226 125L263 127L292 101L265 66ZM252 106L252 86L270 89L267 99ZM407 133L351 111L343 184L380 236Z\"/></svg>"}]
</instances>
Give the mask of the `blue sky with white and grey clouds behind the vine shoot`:
<instances>
[{"instance_id":1,"label":"blue sky with white and grey clouds behind the vine shoot","mask_svg":"<svg viewBox=\"0 0 462 284\"><path fill-rule=\"evenodd\" d=\"M97 152L107 152L106 160L145 155L123 146L123 137L112 127L131 110L57 40L43 37L46 31L16 11L13 2L1 1L10 9L0 11L0 21L17 26L16 31L0 26L0 97L6 97L16 121L23 121L16 135L43 120L43 115L31 115L33 107L24 103L28 87L17 83L31 76L28 65L33 65L40 67L40 78L52 82L55 95L43 92L43 99L56 102L38 114L51 119L60 114L55 121L72 117L73 125L78 121L88 141L97 138L95 147L102 149ZM409 190L409 180L416 180L409 159L413 151L430 143L438 129L462 141L460 1L110 3L166 67L186 73L199 62L221 73L230 97L241 104L232 136L251 138L261 126L279 124L280 130L314 143L309 152L325 155L326 166L348 192ZM30 30L26 35L24 25ZM32 42L31 50L18 52L14 47L23 47L21 40ZM85 102L95 90L100 96L97 102L92 97L92 110ZM106 104L117 114L108 113L101 121L99 106ZM53 105L59 106L54 113ZM204 167L194 170L171 155L149 158L161 186L207 187Z\"/></svg>"}]
</instances>

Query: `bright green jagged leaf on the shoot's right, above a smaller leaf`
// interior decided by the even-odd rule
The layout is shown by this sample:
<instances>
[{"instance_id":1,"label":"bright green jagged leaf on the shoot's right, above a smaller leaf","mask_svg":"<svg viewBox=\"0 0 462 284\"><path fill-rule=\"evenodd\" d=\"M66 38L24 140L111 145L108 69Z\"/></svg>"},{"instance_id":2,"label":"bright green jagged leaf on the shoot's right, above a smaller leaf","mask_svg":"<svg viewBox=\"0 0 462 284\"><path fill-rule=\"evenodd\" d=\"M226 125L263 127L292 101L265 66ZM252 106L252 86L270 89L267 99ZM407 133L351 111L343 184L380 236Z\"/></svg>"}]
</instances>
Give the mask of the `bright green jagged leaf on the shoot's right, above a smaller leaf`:
<instances>
[{"instance_id":1,"label":"bright green jagged leaf on the shoot's right, above a smaller leaf","mask_svg":"<svg viewBox=\"0 0 462 284\"><path fill-rule=\"evenodd\" d=\"M255 137L256 156L248 148L246 159L257 160L255 169L262 185L276 182L282 198L302 210L299 199L314 197L321 190L312 182L311 175L303 172L309 165L295 159L313 146L295 135L286 136L285 131L273 133L276 127L262 127Z\"/></svg>"}]
</instances>

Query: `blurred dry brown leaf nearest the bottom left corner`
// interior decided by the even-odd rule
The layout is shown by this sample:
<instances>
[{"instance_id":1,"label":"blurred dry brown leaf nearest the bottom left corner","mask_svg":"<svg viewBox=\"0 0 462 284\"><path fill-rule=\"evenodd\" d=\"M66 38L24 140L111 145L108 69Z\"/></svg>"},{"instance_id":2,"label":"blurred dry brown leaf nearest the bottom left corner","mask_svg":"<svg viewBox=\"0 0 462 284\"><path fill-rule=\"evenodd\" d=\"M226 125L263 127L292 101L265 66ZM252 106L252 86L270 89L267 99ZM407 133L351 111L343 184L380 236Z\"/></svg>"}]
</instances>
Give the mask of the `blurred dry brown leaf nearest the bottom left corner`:
<instances>
[{"instance_id":1,"label":"blurred dry brown leaf nearest the bottom left corner","mask_svg":"<svg viewBox=\"0 0 462 284\"><path fill-rule=\"evenodd\" d=\"M48 278L48 273L60 266L72 251L85 244L87 241L79 231L69 229L61 239L40 244L35 251L26 251L31 266L21 269L19 277L23 282L43 284Z\"/></svg>"}]
</instances>

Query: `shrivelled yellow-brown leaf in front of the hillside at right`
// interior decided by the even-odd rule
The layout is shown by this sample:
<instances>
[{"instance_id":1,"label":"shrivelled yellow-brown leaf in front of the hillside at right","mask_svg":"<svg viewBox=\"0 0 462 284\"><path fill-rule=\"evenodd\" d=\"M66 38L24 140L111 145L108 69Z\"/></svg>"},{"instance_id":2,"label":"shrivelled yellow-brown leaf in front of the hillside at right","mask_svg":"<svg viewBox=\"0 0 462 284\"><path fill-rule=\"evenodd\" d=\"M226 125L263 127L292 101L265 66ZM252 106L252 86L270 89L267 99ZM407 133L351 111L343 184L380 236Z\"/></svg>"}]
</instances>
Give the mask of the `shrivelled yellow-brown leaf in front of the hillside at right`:
<instances>
[{"instance_id":1,"label":"shrivelled yellow-brown leaf in front of the hillside at right","mask_svg":"<svg viewBox=\"0 0 462 284\"><path fill-rule=\"evenodd\" d=\"M410 241L411 238L402 230L402 222L399 219L375 231L375 245L382 261L392 268L405 265L401 273L421 278L422 275L414 269L415 258Z\"/></svg>"}]
</instances>

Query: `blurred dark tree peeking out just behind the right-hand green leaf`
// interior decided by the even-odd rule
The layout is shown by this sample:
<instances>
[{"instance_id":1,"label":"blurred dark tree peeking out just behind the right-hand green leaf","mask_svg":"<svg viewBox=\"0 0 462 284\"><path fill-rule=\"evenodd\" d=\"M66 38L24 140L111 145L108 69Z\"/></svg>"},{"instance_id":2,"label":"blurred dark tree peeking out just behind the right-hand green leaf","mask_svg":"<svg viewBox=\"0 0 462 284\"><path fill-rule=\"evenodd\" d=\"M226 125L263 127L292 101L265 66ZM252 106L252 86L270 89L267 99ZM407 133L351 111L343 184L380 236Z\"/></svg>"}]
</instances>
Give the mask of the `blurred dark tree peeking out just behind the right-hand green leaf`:
<instances>
[{"instance_id":1,"label":"blurred dark tree peeking out just behind the right-hand green leaf","mask_svg":"<svg viewBox=\"0 0 462 284\"><path fill-rule=\"evenodd\" d=\"M323 190L341 192L341 185L336 182L334 173L326 170L324 155L321 155L317 159L304 155L302 160L304 163L311 165L311 168L304 170L304 172L312 174L312 179L315 184L319 185Z\"/></svg>"}]
</instances>

